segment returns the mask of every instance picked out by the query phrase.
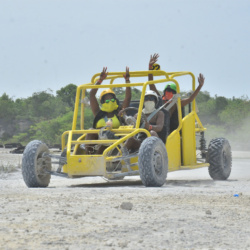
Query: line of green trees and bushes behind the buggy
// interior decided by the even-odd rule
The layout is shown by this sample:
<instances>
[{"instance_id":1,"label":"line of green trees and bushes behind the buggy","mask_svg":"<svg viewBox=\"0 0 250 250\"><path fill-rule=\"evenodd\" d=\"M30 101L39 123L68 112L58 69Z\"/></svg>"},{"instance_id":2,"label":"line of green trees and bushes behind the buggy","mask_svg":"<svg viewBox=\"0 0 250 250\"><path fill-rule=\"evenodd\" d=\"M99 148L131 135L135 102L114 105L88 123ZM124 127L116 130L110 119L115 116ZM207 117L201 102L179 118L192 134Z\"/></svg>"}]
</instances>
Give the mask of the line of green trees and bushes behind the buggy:
<instances>
[{"instance_id":1,"label":"line of green trees and bushes behind the buggy","mask_svg":"<svg viewBox=\"0 0 250 250\"><path fill-rule=\"evenodd\" d=\"M72 126L77 86L69 84L56 91L34 93L31 97L16 99L6 93L0 97L0 143L19 142L26 145L38 139L49 145L60 144L61 134ZM123 100L125 89L114 89ZM141 91L133 88L132 100L138 100ZM185 93L182 93L183 95ZM88 93L86 93L88 96ZM250 150L250 101L240 98L211 97L201 91L196 99L198 115L207 128L207 141L214 137L226 137L234 150ZM186 107L188 112L188 107ZM85 128L92 126L93 115L89 107L85 113Z\"/></svg>"}]
</instances>

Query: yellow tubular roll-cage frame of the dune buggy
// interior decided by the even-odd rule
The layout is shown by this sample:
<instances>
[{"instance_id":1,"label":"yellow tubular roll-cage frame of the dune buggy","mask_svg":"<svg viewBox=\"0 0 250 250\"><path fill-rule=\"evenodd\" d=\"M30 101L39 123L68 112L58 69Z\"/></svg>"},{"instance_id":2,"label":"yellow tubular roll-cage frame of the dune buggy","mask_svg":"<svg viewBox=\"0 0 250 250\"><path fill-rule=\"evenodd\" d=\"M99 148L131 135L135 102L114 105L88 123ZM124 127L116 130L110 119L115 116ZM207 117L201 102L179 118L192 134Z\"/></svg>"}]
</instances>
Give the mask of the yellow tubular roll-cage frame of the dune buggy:
<instances>
[{"instance_id":1,"label":"yellow tubular roll-cage frame of the dune buggy","mask_svg":"<svg viewBox=\"0 0 250 250\"><path fill-rule=\"evenodd\" d=\"M180 87L178 81L175 79L176 77L179 76L185 76L185 75L190 75L192 78L192 89L193 91L195 90L195 77L191 72L184 71L184 72L165 72L162 70L159 71L134 71L130 72L130 78L134 77L147 77L149 74L152 74L154 76L162 76L164 77L163 79L160 80L153 80L153 81L145 81L145 82L138 82L138 83L114 83L115 80L117 79L123 79L123 75L125 72L109 72L107 78L105 81L109 81L109 84L102 84L102 85L95 85L95 82L99 79L100 73L95 74L91 78L91 82L87 84L83 84L77 87L76 91L76 100L75 100L75 109L74 109L74 115L73 115L73 122L72 122L72 130L71 131L66 131L62 134L61 141L62 141L62 150L64 148L67 148L67 158L71 157L71 147L72 145L79 145L82 143L88 143L88 144L103 144L103 143L109 143L111 144L107 149L104 150L102 156L105 157L105 161L109 161L113 159L114 157L107 157L107 153L112 150L113 148L117 147L119 144L125 142L128 138L134 136L135 134L139 132L144 132L147 134L147 136L150 136L150 133L145 130L145 129L140 129L140 120L142 116L142 109L143 109L143 103L144 103L144 96L146 92L146 88L148 85L151 84L158 84L158 83L164 83L164 82L174 82L176 84L177 88L177 93L180 93ZM136 86L141 86L142 87L142 94L141 94L141 100L138 108L138 116L137 116L137 122L135 128L128 128L126 127L125 129L112 129L114 133L124 133L124 137L122 137L119 140L94 140L94 141L86 141L84 140L84 137L87 133L98 133L100 130L95 129L95 130L85 130L84 129L84 109L85 109L85 104L82 102L82 100L85 98L85 91L87 89L105 89L105 88L120 88L120 87L136 87ZM79 104L81 100L81 118L80 118L80 130L77 130L77 117L78 117L78 112L79 112ZM179 126L176 129L176 133L179 134L180 130L182 129L182 115L181 115L181 99L180 97L177 100L177 109L178 109L178 120L179 120ZM195 132L201 132L204 131L205 128L203 127L199 117L196 114L195 111L195 100L192 102L192 113L195 115L195 120L198 124L198 128L195 128ZM81 134L78 138L77 141L74 141L73 135L74 134ZM67 144L66 144L66 136L68 137L67 139ZM169 138L171 138L172 134L169 135ZM166 143L167 146L167 143ZM195 149L194 149L195 150ZM74 152L75 153L75 152ZM87 157L87 156L86 156ZM92 158L94 156L91 156ZM100 155L99 155L100 157ZM171 157L171 156L169 156ZM194 166L194 167L197 167ZM70 166L67 166L67 168L70 168ZM181 166L173 166L173 168L170 170L177 170L181 168Z\"/></svg>"}]
</instances>

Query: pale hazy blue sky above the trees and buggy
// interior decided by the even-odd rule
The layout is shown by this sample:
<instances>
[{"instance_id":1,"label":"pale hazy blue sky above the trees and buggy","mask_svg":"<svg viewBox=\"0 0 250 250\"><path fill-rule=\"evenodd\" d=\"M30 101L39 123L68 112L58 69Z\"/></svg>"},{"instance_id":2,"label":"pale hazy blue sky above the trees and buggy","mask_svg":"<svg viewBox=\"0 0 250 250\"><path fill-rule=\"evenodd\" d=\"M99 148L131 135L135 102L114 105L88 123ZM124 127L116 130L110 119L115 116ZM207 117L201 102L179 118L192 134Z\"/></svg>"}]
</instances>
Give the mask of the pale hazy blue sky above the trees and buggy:
<instances>
[{"instance_id":1,"label":"pale hazy blue sky above the trees and buggy","mask_svg":"<svg viewBox=\"0 0 250 250\"><path fill-rule=\"evenodd\" d=\"M0 37L0 96L147 70L153 53L164 71L203 73L211 96L250 96L249 0L0 0Z\"/></svg>"}]
</instances>

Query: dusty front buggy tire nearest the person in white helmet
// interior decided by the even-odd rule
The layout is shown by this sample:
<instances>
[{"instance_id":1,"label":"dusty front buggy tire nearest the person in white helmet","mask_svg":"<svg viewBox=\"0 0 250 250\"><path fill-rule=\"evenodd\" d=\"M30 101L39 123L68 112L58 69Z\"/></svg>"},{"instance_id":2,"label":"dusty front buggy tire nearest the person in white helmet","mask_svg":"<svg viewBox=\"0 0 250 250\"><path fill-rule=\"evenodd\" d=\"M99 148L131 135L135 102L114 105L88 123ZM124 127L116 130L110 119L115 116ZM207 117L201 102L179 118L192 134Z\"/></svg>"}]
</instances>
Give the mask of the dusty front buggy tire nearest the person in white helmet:
<instances>
[{"instance_id":1,"label":"dusty front buggy tire nearest the person in white helmet","mask_svg":"<svg viewBox=\"0 0 250 250\"><path fill-rule=\"evenodd\" d=\"M142 183L146 187L161 187L167 178L168 154L160 138L151 136L146 138L140 147L139 173Z\"/></svg>"}]
</instances>

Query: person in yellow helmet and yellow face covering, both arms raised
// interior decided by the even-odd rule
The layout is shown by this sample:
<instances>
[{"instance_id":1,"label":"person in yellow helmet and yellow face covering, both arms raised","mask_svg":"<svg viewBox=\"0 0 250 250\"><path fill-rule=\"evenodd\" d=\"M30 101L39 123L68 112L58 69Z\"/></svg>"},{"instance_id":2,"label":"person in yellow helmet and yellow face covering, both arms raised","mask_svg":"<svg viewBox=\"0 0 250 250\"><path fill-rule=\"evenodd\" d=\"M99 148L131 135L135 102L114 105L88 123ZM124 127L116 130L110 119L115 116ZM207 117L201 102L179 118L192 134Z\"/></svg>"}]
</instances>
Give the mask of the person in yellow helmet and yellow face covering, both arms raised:
<instances>
[{"instance_id":1,"label":"person in yellow helmet and yellow face covering, both arms raised","mask_svg":"<svg viewBox=\"0 0 250 250\"><path fill-rule=\"evenodd\" d=\"M108 75L107 67L103 68L100 78L96 81L95 85L100 85ZM126 74L123 75L126 80L126 83L130 83L129 68L126 67ZM121 125L118 112L123 108L127 108L131 100L131 88L126 87L125 99L123 101L122 107L119 106L119 100L116 98L115 92L111 89L106 89L101 92L99 107L98 101L96 99L96 93L98 89L90 90L90 107L94 114L93 128L101 128L107 125L111 125L112 128L119 128ZM86 140L97 140L98 134L87 134ZM97 150L97 154L102 153L104 146L100 147ZM86 153L94 153L93 145L86 145Z\"/></svg>"}]
</instances>

